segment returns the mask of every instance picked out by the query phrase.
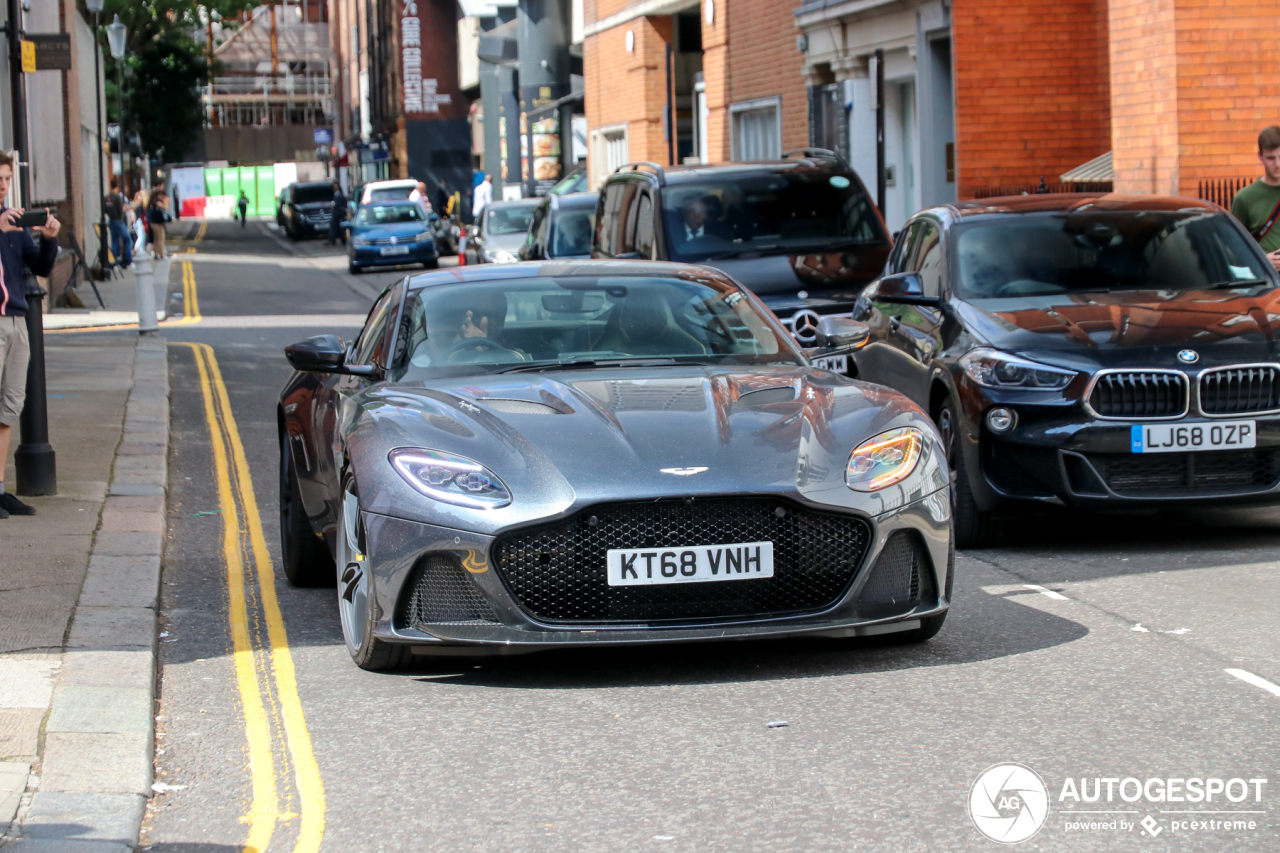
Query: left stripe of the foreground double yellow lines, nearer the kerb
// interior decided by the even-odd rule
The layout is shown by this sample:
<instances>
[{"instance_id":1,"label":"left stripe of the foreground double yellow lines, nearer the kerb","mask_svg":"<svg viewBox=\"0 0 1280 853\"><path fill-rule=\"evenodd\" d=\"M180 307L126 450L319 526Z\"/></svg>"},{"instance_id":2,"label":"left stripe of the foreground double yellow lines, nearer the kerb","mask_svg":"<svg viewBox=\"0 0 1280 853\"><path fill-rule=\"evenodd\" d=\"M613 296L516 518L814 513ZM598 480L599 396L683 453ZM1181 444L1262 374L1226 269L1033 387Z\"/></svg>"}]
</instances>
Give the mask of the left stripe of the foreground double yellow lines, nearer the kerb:
<instances>
[{"instance_id":1,"label":"left stripe of the foreground double yellow lines, nearer the kerb","mask_svg":"<svg viewBox=\"0 0 1280 853\"><path fill-rule=\"evenodd\" d=\"M246 815L250 824L244 853L265 850L271 841L276 822L275 761L271 752L271 730L266 708L259 689L257 661L248 626L248 607L244 598L244 561L241 555L239 515L232 493L230 471L227 446L219 428L218 412L214 406L214 393L210 387L209 368L205 364L202 345L188 346L196 359L200 371L200 391L205 398L205 420L209 424L210 444L214 455L214 474L218 480L218 500L223 512L223 556L227 560L228 619L230 621L233 660L236 662L236 684L239 688L241 703L244 710L244 736L248 740L250 776L253 784L253 800Z\"/></svg>"}]
</instances>

